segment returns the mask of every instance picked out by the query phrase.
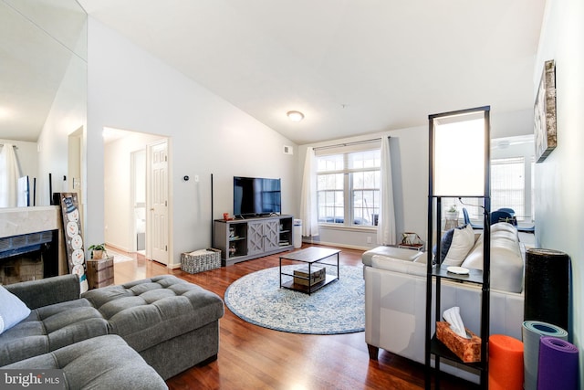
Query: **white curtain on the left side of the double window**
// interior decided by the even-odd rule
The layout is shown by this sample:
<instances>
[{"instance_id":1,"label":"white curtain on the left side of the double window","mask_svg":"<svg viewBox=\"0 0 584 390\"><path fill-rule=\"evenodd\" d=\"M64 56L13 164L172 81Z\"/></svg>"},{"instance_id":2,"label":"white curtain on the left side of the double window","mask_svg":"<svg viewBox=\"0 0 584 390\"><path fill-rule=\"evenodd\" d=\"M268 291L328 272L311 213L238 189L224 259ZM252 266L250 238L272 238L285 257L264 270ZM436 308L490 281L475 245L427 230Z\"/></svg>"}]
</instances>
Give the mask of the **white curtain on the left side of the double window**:
<instances>
[{"instance_id":1,"label":"white curtain on the left side of the double window","mask_svg":"<svg viewBox=\"0 0 584 390\"><path fill-rule=\"evenodd\" d=\"M307 158L304 163L300 217L302 218L302 236L318 236L317 159L314 148L311 147L307 148Z\"/></svg>"}]
</instances>

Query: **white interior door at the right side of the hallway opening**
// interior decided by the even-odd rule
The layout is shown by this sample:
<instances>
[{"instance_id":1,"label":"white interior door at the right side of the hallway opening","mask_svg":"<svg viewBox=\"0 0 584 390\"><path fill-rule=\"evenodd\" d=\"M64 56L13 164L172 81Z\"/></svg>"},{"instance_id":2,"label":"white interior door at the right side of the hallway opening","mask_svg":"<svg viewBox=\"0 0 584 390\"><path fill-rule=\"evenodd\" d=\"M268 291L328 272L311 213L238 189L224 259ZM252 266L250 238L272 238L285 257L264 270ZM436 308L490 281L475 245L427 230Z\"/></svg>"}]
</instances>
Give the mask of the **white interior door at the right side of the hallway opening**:
<instances>
[{"instance_id":1,"label":"white interior door at the right side of the hallway opening","mask_svg":"<svg viewBox=\"0 0 584 390\"><path fill-rule=\"evenodd\" d=\"M168 142L150 145L151 258L168 265Z\"/></svg>"}]
</instances>

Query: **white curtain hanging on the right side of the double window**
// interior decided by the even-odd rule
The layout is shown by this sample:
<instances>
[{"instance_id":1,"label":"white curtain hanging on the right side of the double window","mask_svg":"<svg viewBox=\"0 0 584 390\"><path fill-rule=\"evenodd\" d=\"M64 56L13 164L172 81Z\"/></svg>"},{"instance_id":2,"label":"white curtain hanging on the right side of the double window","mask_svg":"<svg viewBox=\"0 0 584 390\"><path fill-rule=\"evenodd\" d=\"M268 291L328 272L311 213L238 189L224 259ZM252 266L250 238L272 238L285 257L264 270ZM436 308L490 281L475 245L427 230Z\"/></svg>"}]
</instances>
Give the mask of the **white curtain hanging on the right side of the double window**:
<instances>
[{"instance_id":1,"label":"white curtain hanging on the right side of the double window","mask_svg":"<svg viewBox=\"0 0 584 390\"><path fill-rule=\"evenodd\" d=\"M393 180L391 178L390 138L381 138L380 216L377 225L377 243L395 245L395 212L393 208Z\"/></svg>"}]
</instances>

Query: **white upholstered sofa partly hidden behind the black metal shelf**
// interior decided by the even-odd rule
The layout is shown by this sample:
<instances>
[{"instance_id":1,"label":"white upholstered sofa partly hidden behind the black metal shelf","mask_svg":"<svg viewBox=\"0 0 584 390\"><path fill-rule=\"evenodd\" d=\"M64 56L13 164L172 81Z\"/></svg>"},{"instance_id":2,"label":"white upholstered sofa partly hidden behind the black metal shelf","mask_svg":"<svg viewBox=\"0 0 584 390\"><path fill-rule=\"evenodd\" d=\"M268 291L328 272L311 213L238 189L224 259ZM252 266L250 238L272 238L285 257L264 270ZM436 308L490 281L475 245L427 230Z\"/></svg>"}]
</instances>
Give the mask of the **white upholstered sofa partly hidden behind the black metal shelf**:
<instances>
[{"instance_id":1,"label":"white upholstered sofa partly hidden behind the black metal shelf","mask_svg":"<svg viewBox=\"0 0 584 390\"><path fill-rule=\"evenodd\" d=\"M447 250L447 256L453 255L454 259L450 257L446 261L449 265L482 269L482 234L472 230L469 233L470 228L454 230L451 248ZM472 242L462 245L459 238L468 239L469 235ZM468 245L472 248L467 248ZM506 223L491 227L491 334L506 334L521 340L524 252L516 227ZM462 262L456 264L461 255ZM377 359L381 348L424 363L426 258L427 253L391 247L378 247L363 254L365 341L371 359ZM460 307L464 325L480 334L481 287L446 279L442 287L441 310ZM478 375L463 364L446 360L441 363L444 372L478 381Z\"/></svg>"}]
</instances>

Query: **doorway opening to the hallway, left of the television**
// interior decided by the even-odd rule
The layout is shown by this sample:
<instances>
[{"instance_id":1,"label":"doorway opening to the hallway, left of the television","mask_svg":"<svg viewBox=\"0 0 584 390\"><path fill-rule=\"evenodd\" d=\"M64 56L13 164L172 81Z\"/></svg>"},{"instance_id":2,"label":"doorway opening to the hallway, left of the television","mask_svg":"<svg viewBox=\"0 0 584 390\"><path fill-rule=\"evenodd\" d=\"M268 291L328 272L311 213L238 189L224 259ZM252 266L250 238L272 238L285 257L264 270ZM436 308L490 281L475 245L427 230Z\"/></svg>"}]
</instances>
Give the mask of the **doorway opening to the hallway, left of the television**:
<instances>
[{"instance_id":1,"label":"doorway opening to the hallway, left of the television","mask_svg":"<svg viewBox=\"0 0 584 390\"><path fill-rule=\"evenodd\" d=\"M164 167L157 162L161 155ZM107 246L168 265L169 160L167 137L104 128ZM161 199L163 210L154 203Z\"/></svg>"}]
</instances>

